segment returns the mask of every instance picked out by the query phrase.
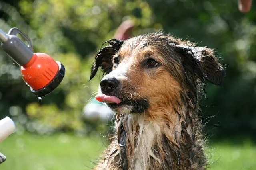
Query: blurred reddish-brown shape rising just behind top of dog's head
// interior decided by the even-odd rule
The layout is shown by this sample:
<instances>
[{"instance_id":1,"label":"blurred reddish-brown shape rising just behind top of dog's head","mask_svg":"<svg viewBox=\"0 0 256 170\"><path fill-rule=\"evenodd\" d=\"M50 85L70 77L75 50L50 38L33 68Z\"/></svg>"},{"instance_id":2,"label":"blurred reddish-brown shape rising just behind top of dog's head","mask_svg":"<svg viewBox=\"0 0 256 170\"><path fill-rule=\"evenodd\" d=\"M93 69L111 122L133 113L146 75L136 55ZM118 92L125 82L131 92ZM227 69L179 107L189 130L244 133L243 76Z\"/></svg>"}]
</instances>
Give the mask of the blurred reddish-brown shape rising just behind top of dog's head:
<instances>
[{"instance_id":1,"label":"blurred reddish-brown shape rising just behind top of dog's head","mask_svg":"<svg viewBox=\"0 0 256 170\"><path fill-rule=\"evenodd\" d=\"M116 30L114 38L120 40L129 39L132 36L132 28L134 27L134 23L131 20L126 20L121 23L121 25Z\"/></svg>"}]
</instances>

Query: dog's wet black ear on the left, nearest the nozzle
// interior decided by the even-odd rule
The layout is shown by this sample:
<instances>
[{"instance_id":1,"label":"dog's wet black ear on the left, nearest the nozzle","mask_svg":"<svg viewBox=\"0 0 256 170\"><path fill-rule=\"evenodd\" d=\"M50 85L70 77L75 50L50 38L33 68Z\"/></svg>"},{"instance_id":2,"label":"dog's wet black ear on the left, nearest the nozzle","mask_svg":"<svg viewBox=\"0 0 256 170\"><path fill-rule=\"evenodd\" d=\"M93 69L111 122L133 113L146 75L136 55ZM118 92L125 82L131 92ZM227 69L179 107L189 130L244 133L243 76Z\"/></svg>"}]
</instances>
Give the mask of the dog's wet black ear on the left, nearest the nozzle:
<instances>
[{"instance_id":1,"label":"dog's wet black ear on the left, nearest the nozzle","mask_svg":"<svg viewBox=\"0 0 256 170\"><path fill-rule=\"evenodd\" d=\"M106 43L108 43L109 45L101 48L95 56L95 61L91 67L90 80L94 78L99 67L102 68L103 74L108 74L112 71L112 57L119 51L123 44L123 41L119 39L110 39L104 42L102 46Z\"/></svg>"}]
</instances>

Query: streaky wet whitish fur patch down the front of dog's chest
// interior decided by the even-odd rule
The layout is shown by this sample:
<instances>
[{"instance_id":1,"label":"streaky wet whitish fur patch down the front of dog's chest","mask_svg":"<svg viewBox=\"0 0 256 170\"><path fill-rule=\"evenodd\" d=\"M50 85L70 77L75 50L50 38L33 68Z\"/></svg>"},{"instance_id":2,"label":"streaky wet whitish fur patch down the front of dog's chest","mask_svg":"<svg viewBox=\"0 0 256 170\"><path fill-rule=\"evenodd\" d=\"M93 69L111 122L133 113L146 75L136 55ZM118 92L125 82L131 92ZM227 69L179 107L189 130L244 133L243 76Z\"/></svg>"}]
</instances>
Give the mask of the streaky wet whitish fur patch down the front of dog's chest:
<instances>
[{"instance_id":1,"label":"streaky wet whitish fur patch down the front of dog's chest","mask_svg":"<svg viewBox=\"0 0 256 170\"><path fill-rule=\"evenodd\" d=\"M145 114L120 115L119 119L116 124L119 146L121 153L122 150L126 152L124 155L121 154L122 160L126 161L122 167L127 166L135 170L148 169L149 156L155 157L152 147L157 135L160 134L160 128L152 121L145 121Z\"/></svg>"}]
</instances>

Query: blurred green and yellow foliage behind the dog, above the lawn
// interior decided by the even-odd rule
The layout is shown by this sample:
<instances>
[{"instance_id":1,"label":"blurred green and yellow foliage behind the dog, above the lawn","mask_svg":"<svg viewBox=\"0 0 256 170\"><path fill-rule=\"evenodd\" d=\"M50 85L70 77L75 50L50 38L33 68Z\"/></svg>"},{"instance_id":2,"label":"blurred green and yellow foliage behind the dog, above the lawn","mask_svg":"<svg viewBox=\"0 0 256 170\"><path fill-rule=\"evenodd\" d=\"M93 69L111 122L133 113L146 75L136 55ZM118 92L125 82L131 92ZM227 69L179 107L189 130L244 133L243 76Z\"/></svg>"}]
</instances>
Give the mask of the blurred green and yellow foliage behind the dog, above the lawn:
<instances>
[{"instance_id":1,"label":"blurred green and yellow foliage behind the dog, above the lawn","mask_svg":"<svg viewBox=\"0 0 256 170\"><path fill-rule=\"evenodd\" d=\"M122 21L130 19L136 25L134 35L163 29L216 49L227 65L227 76L222 87L206 88L206 129L215 137L253 135L256 130L254 6L241 14L237 0L2 0L0 16L1 29L20 28L34 51L49 54L66 68L60 86L38 100L22 81L18 66L0 51L0 118L12 115L20 129L87 133L82 108L99 82L88 82L93 55Z\"/></svg>"}]
</instances>

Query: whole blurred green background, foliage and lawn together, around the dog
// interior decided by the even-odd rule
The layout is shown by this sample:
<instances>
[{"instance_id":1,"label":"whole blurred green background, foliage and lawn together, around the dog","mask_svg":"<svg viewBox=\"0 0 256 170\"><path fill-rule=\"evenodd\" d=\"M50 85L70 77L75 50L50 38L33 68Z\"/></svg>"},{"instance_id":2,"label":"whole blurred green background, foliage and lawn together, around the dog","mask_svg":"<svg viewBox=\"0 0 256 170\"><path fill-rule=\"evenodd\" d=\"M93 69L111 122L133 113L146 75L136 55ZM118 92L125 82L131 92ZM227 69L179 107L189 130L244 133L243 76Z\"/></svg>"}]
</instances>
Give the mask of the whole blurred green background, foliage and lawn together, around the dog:
<instances>
[{"instance_id":1,"label":"whole blurred green background, foliage and lawn together, around the dog","mask_svg":"<svg viewBox=\"0 0 256 170\"><path fill-rule=\"evenodd\" d=\"M0 50L0 119L17 132L0 143L1 170L86 170L108 144L107 118L84 116L100 75L90 64L102 43L125 20L133 35L163 30L215 49L227 65L221 87L208 85L202 119L213 170L256 167L256 7L238 11L236 0L0 0L0 28L18 27L34 52L66 68L64 80L42 100L30 92L20 68ZM93 102L89 103L93 104ZM92 105L91 105L92 106Z\"/></svg>"}]
</instances>

